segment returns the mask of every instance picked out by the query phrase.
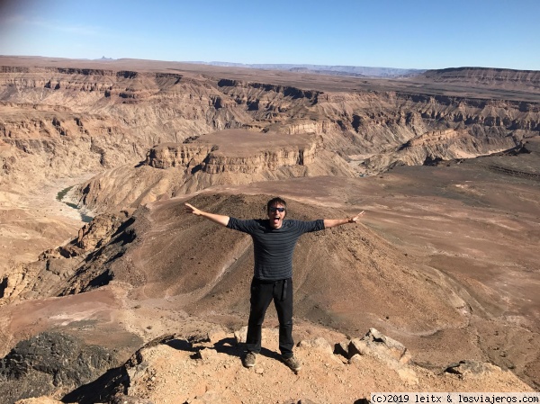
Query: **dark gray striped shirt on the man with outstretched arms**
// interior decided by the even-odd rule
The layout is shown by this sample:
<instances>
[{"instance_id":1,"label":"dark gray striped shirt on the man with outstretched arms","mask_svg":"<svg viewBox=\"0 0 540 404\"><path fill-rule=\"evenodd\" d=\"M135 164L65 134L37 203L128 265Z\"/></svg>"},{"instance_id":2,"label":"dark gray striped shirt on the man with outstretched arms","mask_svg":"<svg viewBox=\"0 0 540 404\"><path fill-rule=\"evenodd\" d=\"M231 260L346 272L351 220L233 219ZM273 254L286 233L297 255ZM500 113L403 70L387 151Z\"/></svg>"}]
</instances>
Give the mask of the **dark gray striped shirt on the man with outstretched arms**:
<instances>
[{"instance_id":1,"label":"dark gray striped shirt on the man with outstretched arms","mask_svg":"<svg viewBox=\"0 0 540 404\"><path fill-rule=\"evenodd\" d=\"M281 228L273 229L268 220L229 218L227 227L253 238L254 277L278 281L293 276L293 252L298 238L304 233L323 230L324 220L284 220Z\"/></svg>"}]
</instances>

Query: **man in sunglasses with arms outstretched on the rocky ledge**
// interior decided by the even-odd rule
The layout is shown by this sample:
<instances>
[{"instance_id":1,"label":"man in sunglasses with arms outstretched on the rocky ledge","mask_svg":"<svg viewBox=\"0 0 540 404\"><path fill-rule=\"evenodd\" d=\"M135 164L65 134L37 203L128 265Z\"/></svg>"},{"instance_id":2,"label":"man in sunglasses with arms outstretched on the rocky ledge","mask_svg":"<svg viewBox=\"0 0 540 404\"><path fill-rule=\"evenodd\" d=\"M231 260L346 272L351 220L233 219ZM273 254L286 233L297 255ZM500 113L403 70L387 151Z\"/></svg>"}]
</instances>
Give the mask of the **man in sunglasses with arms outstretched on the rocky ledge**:
<instances>
[{"instance_id":1,"label":"man in sunglasses with arms outstretched on the rocky ledge","mask_svg":"<svg viewBox=\"0 0 540 404\"><path fill-rule=\"evenodd\" d=\"M268 219L238 220L201 211L185 203L186 211L221 226L247 233L253 238L255 268L251 282L249 320L247 322L246 367L253 367L261 351L262 326L266 309L274 301L279 319L279 349L284 364L298 372L302 364L293 355L293 251L303 233L356 223L364 211L350 219L312 221L284 220L287 203L281 198L267 202Z\"/></svg>"}]
</instances>

